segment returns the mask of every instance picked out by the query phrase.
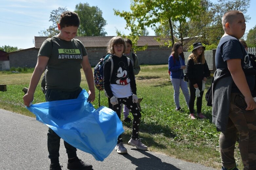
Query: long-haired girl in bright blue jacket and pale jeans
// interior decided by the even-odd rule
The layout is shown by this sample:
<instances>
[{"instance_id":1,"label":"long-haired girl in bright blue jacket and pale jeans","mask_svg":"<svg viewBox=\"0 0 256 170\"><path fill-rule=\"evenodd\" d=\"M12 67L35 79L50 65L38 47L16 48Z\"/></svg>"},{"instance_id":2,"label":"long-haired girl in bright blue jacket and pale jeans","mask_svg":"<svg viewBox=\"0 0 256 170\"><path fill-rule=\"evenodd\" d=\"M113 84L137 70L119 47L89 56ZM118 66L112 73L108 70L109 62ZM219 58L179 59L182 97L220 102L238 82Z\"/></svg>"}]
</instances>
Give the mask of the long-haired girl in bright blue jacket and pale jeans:
<instances>
[{"instance_id":1,"label":"long-haired girl in bright blue jacket and pale jeans","mask_svg":"<svg viewBox=\"0 0 256 170\"><path fill-rule=\"evenodd\" d=\"M170 71L170 79L174 89L174 102L176 105L176 110L180 111L180 87L182 93L185 97L187 107L189 102L189 92L187 88L187 82L184 81L184 72L183 70L186 69L185 65L185 57L183 54L183 47L181 42L175 42L172 48L171 55L169 56L168 61L168 70Z\"/></svg>"}]
</instances>

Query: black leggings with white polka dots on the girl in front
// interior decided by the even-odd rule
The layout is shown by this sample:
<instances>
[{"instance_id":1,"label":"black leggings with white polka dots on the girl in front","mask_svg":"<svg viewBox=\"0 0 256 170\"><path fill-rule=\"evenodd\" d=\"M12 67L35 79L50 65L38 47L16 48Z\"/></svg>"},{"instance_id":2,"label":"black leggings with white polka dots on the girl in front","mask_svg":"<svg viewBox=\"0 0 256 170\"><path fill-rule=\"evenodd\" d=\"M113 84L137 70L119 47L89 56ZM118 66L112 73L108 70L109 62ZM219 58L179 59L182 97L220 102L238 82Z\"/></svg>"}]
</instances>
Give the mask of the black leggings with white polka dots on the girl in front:
<instances>
[{"instance_id":1,"label":"black leggings with white polka dots on the girl in front","mask_svg":"<svg viewBox=\"0 0 256 170\"><path fill-rule=\"evenodd\" d=\"M118 104L113 105L113 111L116 112L117 116L121 119L121 108L122 103L126 105L129 111L132 113L133 121L132 121L132 135L131 138L134 140L139 139L139 125L141 119L141 113L138 109L136 103L132 102L132 96L126 98L118 98ZM123 142L121 135L118 136L117 143Z\"/></svg>"}]
</instances>

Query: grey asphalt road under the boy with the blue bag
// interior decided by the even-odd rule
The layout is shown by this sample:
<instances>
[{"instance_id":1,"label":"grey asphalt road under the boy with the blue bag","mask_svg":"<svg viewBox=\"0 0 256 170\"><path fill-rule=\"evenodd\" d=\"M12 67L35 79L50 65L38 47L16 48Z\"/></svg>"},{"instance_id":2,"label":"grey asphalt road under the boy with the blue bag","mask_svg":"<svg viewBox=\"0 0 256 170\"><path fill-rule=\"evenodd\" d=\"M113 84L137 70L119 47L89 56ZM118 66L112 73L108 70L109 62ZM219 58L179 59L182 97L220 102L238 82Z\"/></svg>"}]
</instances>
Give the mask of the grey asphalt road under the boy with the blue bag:
<instances>
[{"instance_id":1,"label":"grey asphalt road under the boy with the blue bag","mask_svg":"<svg viewBox=\"0 0 256 170\"><path fill-rule=\"evenodd\" d=\"M0 109L0 170L48 170L48 127L35 118ZM115 150L103 162L78 150L84 162L94 170L214 170L197 163L185 162L164 154L141 151L125 145L128 154ZM60 164L67 170L68 158L61 141Z\"/></svg>"}]
</instances>

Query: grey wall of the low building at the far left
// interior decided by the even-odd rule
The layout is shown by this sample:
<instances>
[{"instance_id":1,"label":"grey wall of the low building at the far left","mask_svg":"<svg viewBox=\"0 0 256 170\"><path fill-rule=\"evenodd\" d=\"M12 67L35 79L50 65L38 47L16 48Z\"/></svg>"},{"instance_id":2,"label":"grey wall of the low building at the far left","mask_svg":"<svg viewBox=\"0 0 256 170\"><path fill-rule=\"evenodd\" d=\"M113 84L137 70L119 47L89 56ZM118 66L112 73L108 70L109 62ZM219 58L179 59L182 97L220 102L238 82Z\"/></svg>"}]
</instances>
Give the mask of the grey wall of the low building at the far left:
<instances>
[{"instance_id":1,"label":"grey wall of the low building at the far left","mask_svg":"<svg viewBox=\"0 0 256 170\"><path fill-rule=\"evenodd\" d=\"M9 53L10 67L34 68L37 62L39 49L29 48Z\"/></svg>"}]
</instances>

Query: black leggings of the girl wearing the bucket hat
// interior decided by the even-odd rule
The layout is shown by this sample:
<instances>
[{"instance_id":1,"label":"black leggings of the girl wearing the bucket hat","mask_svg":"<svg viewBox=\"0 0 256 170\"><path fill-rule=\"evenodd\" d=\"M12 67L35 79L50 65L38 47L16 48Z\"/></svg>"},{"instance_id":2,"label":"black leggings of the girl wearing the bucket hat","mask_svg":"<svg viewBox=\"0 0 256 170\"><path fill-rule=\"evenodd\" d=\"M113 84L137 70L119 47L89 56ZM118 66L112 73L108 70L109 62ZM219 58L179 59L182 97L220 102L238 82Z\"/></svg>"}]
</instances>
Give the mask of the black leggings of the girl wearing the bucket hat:
<instances>
[{"instance_id":1,"label":"black leggings of the girl wearing the bucket hat","mask_svg":"<svg viewBox=\"0 0 256 170\"><path fill-rule=\"evenodd\" d=\"M188 85L189 85L189 92L190 92L190 99L188 102L188 107L189 107L189 112L191 114L191 113L194 113L196 89L195 89L194 85L192 85L192 83L190 83L190 81L188 82ZM204 91L202 91L202 83L197 84L197 85L200 90L200 97L198 97L196 99L196 112L197 112L197 114L199 114L199 113L201 113L201 110L202 110L202 99L203 99Z\"/></svg>"}]
</instances>

